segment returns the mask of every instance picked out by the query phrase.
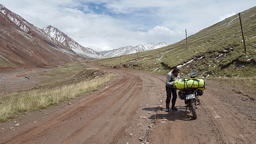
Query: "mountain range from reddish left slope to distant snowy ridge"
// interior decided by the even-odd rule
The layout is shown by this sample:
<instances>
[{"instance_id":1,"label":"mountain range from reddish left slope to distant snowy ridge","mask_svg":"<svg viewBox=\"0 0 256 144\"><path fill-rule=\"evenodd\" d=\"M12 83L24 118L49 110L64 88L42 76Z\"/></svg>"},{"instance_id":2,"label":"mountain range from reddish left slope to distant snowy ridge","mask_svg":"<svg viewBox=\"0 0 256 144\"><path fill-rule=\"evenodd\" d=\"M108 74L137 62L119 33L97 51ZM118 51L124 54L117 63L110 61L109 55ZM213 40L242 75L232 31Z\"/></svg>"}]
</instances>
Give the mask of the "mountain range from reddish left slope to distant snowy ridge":
<instances>
[{"instance_id":1,"label":"mountain range from reddish left slope to distant snowy ridge","mask_svg":"<svg viewBox=\"0 0 256 144\"><path fill-rule=\"evenodd\" d=\"M0 4L0 71L127 55L168 45L149 43L97 52L52 25L40 29Z\"/></svg>"}]
</instances>

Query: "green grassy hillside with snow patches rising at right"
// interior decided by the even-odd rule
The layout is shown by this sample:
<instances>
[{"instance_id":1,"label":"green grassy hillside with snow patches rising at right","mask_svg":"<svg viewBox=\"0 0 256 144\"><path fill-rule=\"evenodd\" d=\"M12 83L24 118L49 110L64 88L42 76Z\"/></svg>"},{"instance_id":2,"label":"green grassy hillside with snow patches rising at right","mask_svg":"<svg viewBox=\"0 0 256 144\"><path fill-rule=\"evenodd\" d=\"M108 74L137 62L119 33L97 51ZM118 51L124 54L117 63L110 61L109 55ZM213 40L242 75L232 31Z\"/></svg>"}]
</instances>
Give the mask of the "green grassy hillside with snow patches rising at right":
<instances>
[{"instance_id":1,"label":"green grassy hillside with snow patches rising at right","mask_svg":"<svg viewBox=\"0 0 256 144\"><path fill-rule=\"evenodd\" d=\"M247 55L244 53L239 15L234 15L167 47L138 54L106 58L96 64L166 74L181 66L181 75L196 71L202 78L256 75L256 7L240 13Z\"/></svg>"}]
</instances>

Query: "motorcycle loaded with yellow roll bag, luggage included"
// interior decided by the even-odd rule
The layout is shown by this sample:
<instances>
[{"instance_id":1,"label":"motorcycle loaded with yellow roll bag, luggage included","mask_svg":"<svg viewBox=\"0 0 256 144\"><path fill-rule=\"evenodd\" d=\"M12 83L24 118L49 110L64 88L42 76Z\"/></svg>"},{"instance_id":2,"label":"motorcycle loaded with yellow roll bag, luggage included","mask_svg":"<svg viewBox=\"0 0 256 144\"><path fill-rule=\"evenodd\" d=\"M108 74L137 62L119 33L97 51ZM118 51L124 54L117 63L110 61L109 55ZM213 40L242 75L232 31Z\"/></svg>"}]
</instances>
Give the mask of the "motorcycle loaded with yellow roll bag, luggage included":
<instances>
[{"instance_id":1,"label":"motorcycle loaded with yellow roll bag, luggage included","mask_svg":"<svg viewBox=\"0 0 256 144\"><path fill-rule=\"evenodd\" d=\"M192 72L195 74L196 72ZM187 109L192 112L193 118L197 119L197 105L200 104L199 96L203 95L205 89L205 82L201 79L195 79L197 76L191 76L188 79L176 80L175 86L179 89L178 96L185 101L186 111Z\"/></svg>"}]
</instances>

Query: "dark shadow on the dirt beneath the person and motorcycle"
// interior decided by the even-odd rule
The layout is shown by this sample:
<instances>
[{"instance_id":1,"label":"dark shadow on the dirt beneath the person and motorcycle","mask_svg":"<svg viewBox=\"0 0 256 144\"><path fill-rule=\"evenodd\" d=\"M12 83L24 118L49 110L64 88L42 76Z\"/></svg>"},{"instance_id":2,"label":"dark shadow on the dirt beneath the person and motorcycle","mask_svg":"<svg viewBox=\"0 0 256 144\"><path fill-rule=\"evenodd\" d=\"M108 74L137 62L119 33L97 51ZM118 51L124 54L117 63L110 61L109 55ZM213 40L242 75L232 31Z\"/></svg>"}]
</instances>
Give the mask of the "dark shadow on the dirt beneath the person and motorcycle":
<instances>
[{"instance_id":1,"label":"dark shadow on the dirt beneath the person and motorcycle","mask_svg":"<svg viewBox=\"0 0 256 144\"><path fill-rule=\"evenodd\" d=\"M159 113L154 114L149 117L151 120L158 120L158 119L167 119L170 121L176 121L176 120L194 120L192 113L189 112L189 110L185 111L186 108L184 106L176 106L178 108L178 111L171 110L170 112L166 113ZM149 107L144 108L145 111L157 111L157 110L163 110L162 107Z\"/></svg>"}]
</instances>

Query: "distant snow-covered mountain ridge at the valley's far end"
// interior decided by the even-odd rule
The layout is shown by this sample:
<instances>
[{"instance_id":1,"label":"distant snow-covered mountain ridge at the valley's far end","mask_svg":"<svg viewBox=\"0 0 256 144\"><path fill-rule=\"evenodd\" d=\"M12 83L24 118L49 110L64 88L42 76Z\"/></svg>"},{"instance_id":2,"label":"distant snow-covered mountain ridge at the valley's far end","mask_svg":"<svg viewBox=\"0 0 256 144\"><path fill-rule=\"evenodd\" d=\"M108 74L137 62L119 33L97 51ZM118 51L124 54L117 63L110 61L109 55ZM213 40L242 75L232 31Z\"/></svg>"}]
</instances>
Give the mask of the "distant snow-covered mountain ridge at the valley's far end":
<instances>
[{"instance_id":1,"label":"distant snow-covered mountain ridge at the valley's far end","mask_svg":"<svg viewBox=\"0 0 256 144\"><path fill-rule=\"evenodd\" d=\"M128 54L134 54L136 52L142 52L142 51L146 51L146 50L162 48L162 47L165 47L168 45L169 44L166 42L160 42L157 45L148 43L145 45L140 44L136 47L127 46L127 47L121 47L121 48L116 48L116 49L112 49L112 50L100 51L100 53L106 57L123 56L123 55L128 55Z\"/></svg>"}]
</instances>

